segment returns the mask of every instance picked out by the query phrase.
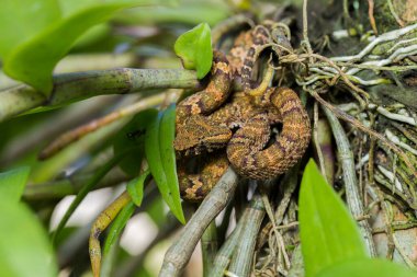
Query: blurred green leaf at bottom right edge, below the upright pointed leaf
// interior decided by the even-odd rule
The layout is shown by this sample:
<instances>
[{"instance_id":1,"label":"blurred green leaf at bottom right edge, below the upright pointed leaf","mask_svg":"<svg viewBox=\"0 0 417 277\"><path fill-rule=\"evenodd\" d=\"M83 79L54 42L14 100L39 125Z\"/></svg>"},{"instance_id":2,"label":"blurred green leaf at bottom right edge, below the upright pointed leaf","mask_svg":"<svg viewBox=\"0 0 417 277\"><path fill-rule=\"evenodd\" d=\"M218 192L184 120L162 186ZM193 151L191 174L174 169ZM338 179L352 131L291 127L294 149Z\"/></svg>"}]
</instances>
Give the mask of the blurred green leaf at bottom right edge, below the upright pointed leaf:
<instances>
[{"instance_id":1,"label":"blurred green leaf at bottom right edge, below the upright pointed leaf","mask_svg":"<svg viewBox=\"0 0 417 277\"><path fill-rule=\"evenodd\" d=\"M416 277L417 272L386 259L364 258L335 264L317 277Z\"/></svg>"}]
</instances>

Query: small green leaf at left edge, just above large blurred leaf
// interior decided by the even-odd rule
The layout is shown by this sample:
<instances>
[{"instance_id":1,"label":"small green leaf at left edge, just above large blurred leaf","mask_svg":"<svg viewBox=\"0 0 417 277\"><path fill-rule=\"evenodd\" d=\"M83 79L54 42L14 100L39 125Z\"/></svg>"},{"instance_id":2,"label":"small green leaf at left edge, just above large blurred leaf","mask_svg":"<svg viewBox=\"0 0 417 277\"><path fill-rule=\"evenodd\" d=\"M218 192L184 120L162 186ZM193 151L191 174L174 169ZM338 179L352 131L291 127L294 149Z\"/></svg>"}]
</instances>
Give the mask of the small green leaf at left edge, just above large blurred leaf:
<instances>
[{"instance_id":1,"label":"small green leaf at left edge, just above large blurred leaf","mask_svg":"<svg viewBox=\"0 0 417 277\"><path fill-rule=\"evenodd\" d=\"M2 198L19 201L23 194L31 169L19 168L0 173L0 195Z\"/></svg>"}]
</instances>

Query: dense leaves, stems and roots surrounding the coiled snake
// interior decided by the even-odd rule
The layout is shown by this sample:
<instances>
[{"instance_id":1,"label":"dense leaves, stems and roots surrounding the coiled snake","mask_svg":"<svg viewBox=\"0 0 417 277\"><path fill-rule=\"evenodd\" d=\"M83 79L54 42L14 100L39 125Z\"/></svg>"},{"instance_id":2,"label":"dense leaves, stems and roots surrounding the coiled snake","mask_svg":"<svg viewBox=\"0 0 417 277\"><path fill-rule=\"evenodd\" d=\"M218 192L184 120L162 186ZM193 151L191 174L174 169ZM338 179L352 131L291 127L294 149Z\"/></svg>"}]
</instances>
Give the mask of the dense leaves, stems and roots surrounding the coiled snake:
<instances>
[{"instance_id":1,"label":"dense leaves, stems and roots surrounding the coiled snake","mask_svg":"<svg viewBox=\"0 0 417 277\"><path fill-rule=\"evenodd\" d=\"M264 20L309 147L182 201L176 104ZM15 0L0 33L0 276L416 275L415 1Z\"/></svg>"}]
</instances>

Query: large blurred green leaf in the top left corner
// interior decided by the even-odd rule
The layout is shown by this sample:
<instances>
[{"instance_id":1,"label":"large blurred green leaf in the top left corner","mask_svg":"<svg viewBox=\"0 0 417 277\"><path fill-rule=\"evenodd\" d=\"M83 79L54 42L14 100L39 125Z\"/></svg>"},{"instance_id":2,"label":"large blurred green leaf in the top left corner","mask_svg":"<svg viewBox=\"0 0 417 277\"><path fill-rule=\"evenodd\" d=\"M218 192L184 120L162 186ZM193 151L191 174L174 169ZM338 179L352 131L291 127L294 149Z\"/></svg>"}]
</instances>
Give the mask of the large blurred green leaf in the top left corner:
<instances>
[{"instance_id":1,"label":"large blurred green leaf in the top left corner","mask_svg":"<svg viewBox=\"0 0 417 277\"><path fill-rule=\"evenodd\" d=\"M8 1L11 2L11 1ZM10 34L15 25L21 25L20 18L10 19L13 14L25 15L24 22L36 22L41 20L44 24L36 24L34 28L27 28L25 34L29 39L18 39L13 36L9 47L0 47L0 53L4 65L3 70L13 79L23 81L36 90L49 95L53 89L52 73L55 65L69 51L74 43L90 27L109 20L115 12L138 4L155 4L158 0L108 0L104 3L98 0L89 0L84 3L69 5L69 14L65 18L56 15L55 12L47 13L47 21L43 12L32 9L31 12L18 12L19 9L26 9L24 4L27 0L15 0L15 4L8 4L9 13L5 20L0 18L0 32ZM42 0L34 0L41 3ZM54 2L49 0L49 5ZM44 10L53 10L47 4L41 5ZM1 15L1 14L0 14ZM53 20L50 20L53 19ZM27 23L31 24L31 23ZM65 35L63 35L65 34ZM24 36L24 34L19 34ZM11 36L11 35L10 35ZM0 41L8 44L7 39Z\"/></svg>"}]
</instances>

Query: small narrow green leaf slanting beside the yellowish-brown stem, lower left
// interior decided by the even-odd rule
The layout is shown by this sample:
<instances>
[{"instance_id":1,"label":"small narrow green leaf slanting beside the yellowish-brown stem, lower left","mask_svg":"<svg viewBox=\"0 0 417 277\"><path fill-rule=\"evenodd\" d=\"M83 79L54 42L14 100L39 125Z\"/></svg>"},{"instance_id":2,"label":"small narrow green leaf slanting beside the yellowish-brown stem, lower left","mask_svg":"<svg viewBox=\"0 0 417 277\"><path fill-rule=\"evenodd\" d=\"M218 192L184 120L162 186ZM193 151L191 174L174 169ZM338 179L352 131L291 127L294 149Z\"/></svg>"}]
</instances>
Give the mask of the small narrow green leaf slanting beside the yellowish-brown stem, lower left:
<instances>
[{"instance_id":1,"label":"small narrow green leaf slanting beside the yellowish-brown stem, lower left","mask_svg":"<svg viewBox=\"0 0 417 277\"><path fill-rule=\"evenodd\" d=\"M135 204L133 201L128 203L114 219L112 226L109 229L109 234L104 241L103 254L106 255L113 244L120 238L123 228L126 226L127 221L131 219L133 212L135 211Z\"/></svg>"}]
</instances>

